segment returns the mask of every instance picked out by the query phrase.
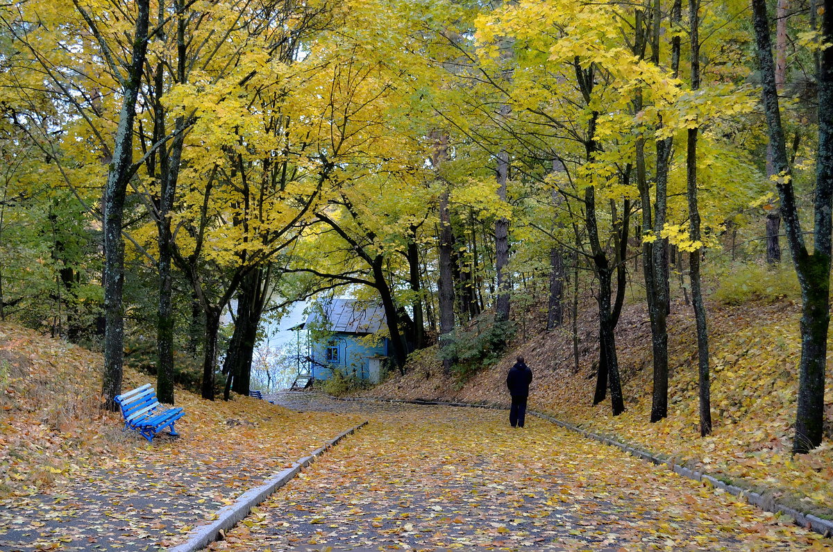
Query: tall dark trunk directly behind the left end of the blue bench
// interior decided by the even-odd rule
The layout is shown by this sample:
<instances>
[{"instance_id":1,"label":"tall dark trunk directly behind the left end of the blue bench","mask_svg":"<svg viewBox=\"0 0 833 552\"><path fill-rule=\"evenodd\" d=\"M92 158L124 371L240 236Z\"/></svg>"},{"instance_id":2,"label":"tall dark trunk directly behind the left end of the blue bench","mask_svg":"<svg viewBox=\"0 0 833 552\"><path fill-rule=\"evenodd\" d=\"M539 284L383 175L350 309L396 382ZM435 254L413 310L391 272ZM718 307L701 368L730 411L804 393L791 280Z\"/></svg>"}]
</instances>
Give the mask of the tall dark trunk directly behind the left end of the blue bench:
<instances>
[{"instance_id":1,"label":"tall dark trunk directly behind the left end of the blue bench","mask_svg":"<svg viewBox=\"0 0 833 552\"><path fill-rule=\"evenodd\" d=\"M107 184L102 200L104 211L104 379L102 394L104 408L117 410L115 399L122 392L122 364L124 359L124 242L122 216L127 183L131 178L133 153L133 121L136 100L142 83L142 67L147 53L147 28L150 15L149 0L137 0L136 29L133 34L131 67L122 93L116 143L107 173Z\"/></svg>"}]
</instances>

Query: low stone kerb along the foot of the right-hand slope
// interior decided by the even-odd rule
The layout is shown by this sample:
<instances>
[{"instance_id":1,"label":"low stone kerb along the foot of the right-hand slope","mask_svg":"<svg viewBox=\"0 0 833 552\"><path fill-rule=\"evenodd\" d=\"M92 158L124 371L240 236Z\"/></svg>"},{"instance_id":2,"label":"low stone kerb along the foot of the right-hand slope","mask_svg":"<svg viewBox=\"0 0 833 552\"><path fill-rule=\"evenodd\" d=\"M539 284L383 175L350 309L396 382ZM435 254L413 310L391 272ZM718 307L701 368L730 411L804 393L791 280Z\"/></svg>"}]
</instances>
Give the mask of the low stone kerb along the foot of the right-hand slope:
<instances>
[{"instance_id":1,"label":"low stone kerb along the foot of the right-hand slope","mask_svg":"<svg viewBox=\"0 0 833 552\"><path fill-rule=\"evenodd\" d=\"M334 399L339 399L334 397ZM404 399L375 399L372 397L367 398L346 398L340 400L349 400L349 401L362 401L362 400L375 400L375 401L382 401L387 403L404 403L404 404L425 404L425 405L436 405L436 406L463 406L468 408L480 408L480 409L506 409L506 406L500 404L466 404L466 403L446 403L441 401L429 401L429 400L404 400ZM669 469L674 471L676 474L681 475L687 479L694 479L695 481L706 481L712 487L716 489L721 489L726 493L729 493L733 496L736 496L738 499L746 501L748 504L752 504L760 509L763 509L767 512L771 512L773 514L786 514L789 515L792 519L796 521L796 524L801 525L801 527L810 526L810 529L815 531L816 533L822 534L826 537L833 537L833 521L829 519L821 519L813 514L805 514L796 509L790 508L785 504L779 504L773 499L769 499L762 494L754 493L751 491L747 491L745 489L741 489L740 487L736 487L735 485L723 483L720 479L716 479L715 477L704 474L702 472L696 471L694 469L686 468L681 464L675 464L673 460L665 460L661 459L660 457L656 456L655 454L651 454L646 452L645 450L636 449L635 447L629 446L625 443L620 443L615 439L611 439L610 437L604 437L599 434L595 434L591 431L587 431L586 429L581 429L576 425L569 424L567 422L561 421L560 419L553 418L548 414L542 414L541 412L536 412L535 410L528 410L528 414L533 416L537 416L538 418L545 419L552 424L556 424L564 429L569 429L577 434L581 434L588 439L595 439L600 443L606 444L608 446L616 447L617 449L621 449L622 451L626 452L627 454L631 454L636 456L637 458L641 458L646 460L647 462L651 462L651 464L661 465L666 464Z\"/></svg>"}]
</instances>

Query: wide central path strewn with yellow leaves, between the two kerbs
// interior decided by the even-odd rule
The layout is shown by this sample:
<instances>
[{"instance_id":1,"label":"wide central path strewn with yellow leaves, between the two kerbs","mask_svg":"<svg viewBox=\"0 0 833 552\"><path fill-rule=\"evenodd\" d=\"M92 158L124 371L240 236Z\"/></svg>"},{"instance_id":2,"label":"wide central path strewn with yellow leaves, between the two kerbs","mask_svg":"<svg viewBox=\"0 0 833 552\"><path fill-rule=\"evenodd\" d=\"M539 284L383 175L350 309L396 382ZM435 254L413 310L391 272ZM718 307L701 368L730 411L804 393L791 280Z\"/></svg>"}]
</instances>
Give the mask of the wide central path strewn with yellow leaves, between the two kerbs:
<instances>
[{"instance_id":1,"label":"wide central path strewn with yellow leaves, between the two kerbs","mask_svg":"<svg viewBox=\"0 0 833 552\"><path fill-rule=\"evenodd\" d=\"M831 544L540 419L513 429L505 412L493 410L340 408L362 411L371 423L279 489L212 550L801 550Z\"/></svg>"}]
</instances>

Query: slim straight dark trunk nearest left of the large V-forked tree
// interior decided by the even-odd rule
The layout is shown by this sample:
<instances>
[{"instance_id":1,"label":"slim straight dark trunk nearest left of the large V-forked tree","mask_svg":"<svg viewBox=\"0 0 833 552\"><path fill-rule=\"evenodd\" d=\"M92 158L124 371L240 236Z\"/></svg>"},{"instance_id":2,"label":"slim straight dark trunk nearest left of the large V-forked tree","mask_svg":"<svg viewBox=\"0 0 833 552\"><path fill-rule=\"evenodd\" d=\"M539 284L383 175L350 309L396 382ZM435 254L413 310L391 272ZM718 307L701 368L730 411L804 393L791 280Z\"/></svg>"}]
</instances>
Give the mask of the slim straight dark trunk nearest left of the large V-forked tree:
<instances>
[{"instance_id":1,"label":"slim straight dark trunk nearest left of the large V-forked tree","mask_svg":"<svg viewBox=\"0 0 833 552\"><path fill-rule=\"evenodd\" d=\"M700 0L689 0L689 18L691 23L691 89L700 88ZM688 195L688 219L691 227L691 241L699 242L700 207L697 203L697 133L698 128L688 129L686 148L686 182ZM700 435L711 434L711 383L709 376L709 333L706 328L706 307L700 289L701 248L696 248L689 257L689 274L691 279L691 304L694 305L694 318L697 329L697 358L700 389Z\"/></svg>"}]
</instances>

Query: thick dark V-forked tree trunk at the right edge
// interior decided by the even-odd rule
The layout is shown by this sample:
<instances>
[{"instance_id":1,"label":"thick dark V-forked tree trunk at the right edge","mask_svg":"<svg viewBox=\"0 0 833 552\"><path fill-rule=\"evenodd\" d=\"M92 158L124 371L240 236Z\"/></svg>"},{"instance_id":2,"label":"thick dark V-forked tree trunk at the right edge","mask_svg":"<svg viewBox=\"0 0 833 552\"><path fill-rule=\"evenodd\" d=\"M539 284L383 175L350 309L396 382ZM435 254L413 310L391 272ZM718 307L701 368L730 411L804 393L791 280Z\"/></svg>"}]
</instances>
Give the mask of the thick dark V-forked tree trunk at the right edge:
<instances>
[{"instance_id":1,"label":"thick dark V-forked tree trunk at the right edge","mask_svg":"<svg viewBox=\"0 0 833 552\"><path fill-rule=\"evenodd\" d=\"M818 61L819 144L816 157L814 248L806 248L796 204L791 169L786 156L781 109L778 105L775 64L766 0L752 0L756 50L761 70L763 103L772 145L773 170L781 201L787 243L801 285L801 361L798 408L793 452L803 454L821 444L824 424L824 389L827 329L830 323L831 208L833 208L833 49L821 52ZM825 0L821 43L833 40L833 0Z\"/></svg>"}]
</instances>

